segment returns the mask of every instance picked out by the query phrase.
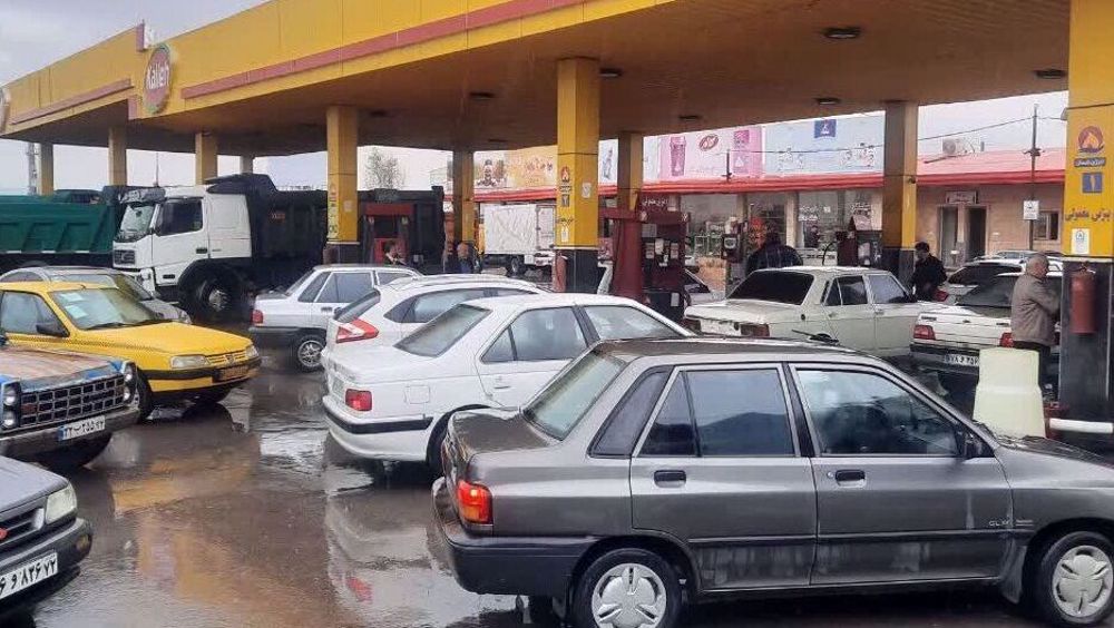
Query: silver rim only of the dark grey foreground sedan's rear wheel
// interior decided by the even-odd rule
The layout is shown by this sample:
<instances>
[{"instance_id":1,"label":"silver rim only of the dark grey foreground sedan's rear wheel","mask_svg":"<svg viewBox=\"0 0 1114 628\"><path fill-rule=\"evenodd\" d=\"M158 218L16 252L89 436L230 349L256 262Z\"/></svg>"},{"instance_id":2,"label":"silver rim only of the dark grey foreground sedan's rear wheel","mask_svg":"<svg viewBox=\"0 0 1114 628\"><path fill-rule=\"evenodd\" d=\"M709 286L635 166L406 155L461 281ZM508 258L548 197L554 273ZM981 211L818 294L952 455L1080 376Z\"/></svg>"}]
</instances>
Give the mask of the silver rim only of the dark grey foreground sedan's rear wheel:
<instances>
[{"instance_id":1,"label":"silver rim only of the dark grey foreground sedan's rear wheel","mask_svg":"<svg viewBox=\"0 0 1114 628\"><path fill-rule=\"evenodd\" d=\"M592 616L599 628L653 628L668 604L662 579L644 565L627 562L607 570L592 593Z\"/></svg>"}]
</instances>

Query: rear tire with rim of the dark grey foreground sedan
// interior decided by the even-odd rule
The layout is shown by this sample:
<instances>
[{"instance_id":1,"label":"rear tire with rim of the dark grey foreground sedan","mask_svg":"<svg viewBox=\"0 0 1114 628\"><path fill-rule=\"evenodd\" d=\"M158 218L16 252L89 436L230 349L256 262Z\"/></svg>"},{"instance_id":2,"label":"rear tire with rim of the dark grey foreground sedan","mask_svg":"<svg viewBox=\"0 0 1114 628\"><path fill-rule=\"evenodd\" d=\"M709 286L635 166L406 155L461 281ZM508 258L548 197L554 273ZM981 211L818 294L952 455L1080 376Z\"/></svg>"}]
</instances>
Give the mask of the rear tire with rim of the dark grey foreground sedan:
<instances>
[{"instance_id":1,"label":"rear tire with rim of the dark grey foreground sedan","mask_svg":"<svg viewBox=\"0 0 1114 628\"><path fill-rule=\"evenodd\" d=\"M677 572L648 550L608 551L593 561L574 586L571 611L577 628L610 628L612 622L597 620L597 616L608 610L631 619L624 626L637 626L635 621L641 619L646 628L673 628L681 615L683 600Z\"/></svg>"}]
</instances>

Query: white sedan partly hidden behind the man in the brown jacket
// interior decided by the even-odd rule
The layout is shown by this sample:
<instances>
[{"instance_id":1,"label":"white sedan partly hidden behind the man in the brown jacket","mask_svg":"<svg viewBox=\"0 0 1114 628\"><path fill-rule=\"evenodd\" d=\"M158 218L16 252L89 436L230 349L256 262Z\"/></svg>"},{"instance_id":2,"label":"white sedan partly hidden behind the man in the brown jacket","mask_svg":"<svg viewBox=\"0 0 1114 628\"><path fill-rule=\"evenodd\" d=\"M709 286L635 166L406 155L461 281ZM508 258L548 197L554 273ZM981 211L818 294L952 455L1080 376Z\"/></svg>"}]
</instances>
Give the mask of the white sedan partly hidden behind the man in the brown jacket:
<instances>
[{"instance_id":1,"label":"white sedan partly hidden behind the man in the brown jacket","mask_svg":"<svg viewBox=\"0 0 1114 628\"><path fill-rule=\"evenodd\" d=\"M978 383L979 351L1012 346L1009 315L1014 284L1022 273L990 277L960 296L955 305L920 315L910 345L913 363L939 376L949 392L967 392ZM1063 275L1049 273L1048 282L1059 294ZM1051 373L1059 373L1059 347L1053 347Z\"/></svg>"}]
</instances>

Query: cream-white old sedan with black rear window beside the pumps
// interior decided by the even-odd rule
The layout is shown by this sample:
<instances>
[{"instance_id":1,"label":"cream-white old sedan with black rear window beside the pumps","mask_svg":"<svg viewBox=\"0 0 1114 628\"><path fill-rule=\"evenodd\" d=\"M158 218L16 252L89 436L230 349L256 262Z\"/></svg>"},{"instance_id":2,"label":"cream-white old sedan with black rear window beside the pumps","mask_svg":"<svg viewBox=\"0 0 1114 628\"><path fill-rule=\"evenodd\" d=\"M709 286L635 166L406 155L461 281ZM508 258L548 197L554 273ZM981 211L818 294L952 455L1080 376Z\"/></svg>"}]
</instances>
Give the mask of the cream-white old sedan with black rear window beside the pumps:
<instances>
[{"instance_id":1,"label":"cream-white old sedan with black rear window beside the pumps","mask_svg":"<svg viewBox=\"0 0 1114 628\"><path fill-rule=\"evenodd\" d=\"M918 303L886 272L841 266L794 266L752 273L726 301L685 310L685 326L735 337L830 338L880 356L909 353Z\"/></svg>"}]
</instances>

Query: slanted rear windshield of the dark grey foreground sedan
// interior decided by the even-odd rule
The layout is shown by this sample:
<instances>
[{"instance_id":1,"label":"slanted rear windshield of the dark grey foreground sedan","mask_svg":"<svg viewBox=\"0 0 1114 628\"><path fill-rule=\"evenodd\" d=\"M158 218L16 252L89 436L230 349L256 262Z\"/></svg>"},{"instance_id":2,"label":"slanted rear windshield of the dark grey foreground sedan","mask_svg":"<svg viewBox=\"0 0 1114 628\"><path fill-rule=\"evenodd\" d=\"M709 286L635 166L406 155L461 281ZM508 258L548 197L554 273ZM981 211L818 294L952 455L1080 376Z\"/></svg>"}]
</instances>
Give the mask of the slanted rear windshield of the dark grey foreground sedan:
<instances>
[{"instance_id":1,"label":"slanted rear windshield of the dark grey foreground sedan","mask_svg":"<svg viewBox=\"0 0 1114 628\"><path fill-rule=\"evenodd\" d=\"M543 432L564 440L626 363L589 351L558 374L522 409L522 416Z\"/></svg>"}]
</instances>

